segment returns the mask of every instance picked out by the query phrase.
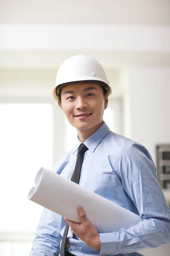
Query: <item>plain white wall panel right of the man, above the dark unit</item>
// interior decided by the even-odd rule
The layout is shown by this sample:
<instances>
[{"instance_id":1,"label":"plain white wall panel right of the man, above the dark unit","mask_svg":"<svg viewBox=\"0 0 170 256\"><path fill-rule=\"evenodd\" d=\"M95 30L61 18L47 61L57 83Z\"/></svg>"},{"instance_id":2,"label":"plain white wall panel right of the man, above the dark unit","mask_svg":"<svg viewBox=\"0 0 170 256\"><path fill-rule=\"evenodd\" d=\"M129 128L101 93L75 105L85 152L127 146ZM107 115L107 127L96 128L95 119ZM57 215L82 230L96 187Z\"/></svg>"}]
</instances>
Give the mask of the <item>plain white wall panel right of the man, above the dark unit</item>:
<instances>
[{"instance_id":1,"label":"plain white wall panel right of the man, above the dark unit","mask_svg":"<svg viewBox=\"0 0 170 256\"><path fill-rule=\"evenodd\" d=\"M170 143L170 68L124 72L124 134L142 143L156 161L156 145Z\"/></svg>"}]
</instances>

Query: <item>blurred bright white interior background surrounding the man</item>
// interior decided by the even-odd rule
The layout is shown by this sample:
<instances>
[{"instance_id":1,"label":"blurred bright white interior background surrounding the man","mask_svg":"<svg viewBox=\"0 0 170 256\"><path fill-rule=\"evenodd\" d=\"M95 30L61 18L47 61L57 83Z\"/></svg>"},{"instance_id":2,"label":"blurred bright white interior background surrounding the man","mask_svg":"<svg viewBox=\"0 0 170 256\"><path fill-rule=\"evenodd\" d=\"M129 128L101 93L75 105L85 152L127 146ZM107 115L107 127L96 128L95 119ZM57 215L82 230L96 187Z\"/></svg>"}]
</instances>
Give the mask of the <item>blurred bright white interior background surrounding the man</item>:
<instances>
[{"instance_id":1,"label":"blurred bright white interior background surrounding the man","mask_svg":"<svg viewBox=\"0 0 170 256\"><path fill-rule=\"evenodd\" d=\"M34 177L77 143L52 97L76 54L105 68L105 122L150 151L170 204L170 0L0 0L0 256L28 255Z\"/></svg>"}]
</instances>

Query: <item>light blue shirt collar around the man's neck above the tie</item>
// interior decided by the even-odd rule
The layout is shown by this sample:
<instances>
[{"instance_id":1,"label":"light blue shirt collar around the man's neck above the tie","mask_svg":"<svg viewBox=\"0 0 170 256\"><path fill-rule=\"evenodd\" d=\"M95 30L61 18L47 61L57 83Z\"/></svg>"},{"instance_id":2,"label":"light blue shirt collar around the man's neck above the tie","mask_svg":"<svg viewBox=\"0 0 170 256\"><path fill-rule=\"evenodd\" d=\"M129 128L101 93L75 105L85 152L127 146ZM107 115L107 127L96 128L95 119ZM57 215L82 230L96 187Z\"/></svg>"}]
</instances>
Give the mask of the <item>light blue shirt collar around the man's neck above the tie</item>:
<instances>
[{"instance_id":1,"label":"light blue shirt collar around the man's neck above the tie","mask_svg":"<svg viewBox=\"0 0 170 256\"><path fill-rule=\"evenodd\" d=\"M94 134L92 134L85 142L84 144L86 147L93 153L96 149L96 147L99 145L99 143L102 141L102 139L106 136L108 133L109 128L104 122L100 128L95 131ZM71 150L71 153L74 154L77 149L79 148L79 145L82 142L78 139L78 144Z\"/></svg>"}]
</instances>

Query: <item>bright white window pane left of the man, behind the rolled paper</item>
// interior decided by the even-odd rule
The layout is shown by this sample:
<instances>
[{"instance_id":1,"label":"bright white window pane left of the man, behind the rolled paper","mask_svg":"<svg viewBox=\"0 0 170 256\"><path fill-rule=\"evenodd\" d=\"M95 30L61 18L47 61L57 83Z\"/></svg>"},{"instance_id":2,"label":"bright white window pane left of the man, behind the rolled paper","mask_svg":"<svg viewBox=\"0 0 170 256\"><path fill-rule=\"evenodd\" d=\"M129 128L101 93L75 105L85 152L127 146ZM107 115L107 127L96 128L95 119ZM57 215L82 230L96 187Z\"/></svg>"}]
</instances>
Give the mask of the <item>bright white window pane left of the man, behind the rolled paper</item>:
<instances>
[{"instance_id":1,"label":"bright white window pane left of the man, behind the rolled paper","mask_svg":"<svg viewBox=\"0 0 170 256\"><path fill-rule=\"evenodd\" d=\"M34 232L42 207L29 201L40 167L53 165L50 104L0 104L0 232Z\"/></svg>"}]
</instances>

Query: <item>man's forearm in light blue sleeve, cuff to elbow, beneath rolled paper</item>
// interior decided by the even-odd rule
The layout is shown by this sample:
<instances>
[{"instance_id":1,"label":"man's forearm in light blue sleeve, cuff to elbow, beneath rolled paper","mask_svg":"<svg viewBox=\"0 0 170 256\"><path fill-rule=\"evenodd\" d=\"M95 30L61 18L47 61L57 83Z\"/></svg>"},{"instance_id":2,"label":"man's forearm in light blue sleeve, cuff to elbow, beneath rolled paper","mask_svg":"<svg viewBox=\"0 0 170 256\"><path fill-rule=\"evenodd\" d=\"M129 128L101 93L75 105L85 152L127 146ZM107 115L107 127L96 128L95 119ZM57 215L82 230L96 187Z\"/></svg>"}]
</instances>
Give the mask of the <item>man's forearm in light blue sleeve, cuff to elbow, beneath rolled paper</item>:
<instances>
[{"instance_id":1,"label":"man's forearm in light blue sleeve, cuff to elbow, beneath rolled paper","mask_svg":"<svg viewBox=\"0 0 170 256\"><path fill-rule=\"evenodd\" d=\"M170 225L170 224L169 224ZM100 255L130 253L169 242L170 227L164 222L150 218L139 222L127 230L113 233L100 233Z\"/></svg>"}]
</instances>

